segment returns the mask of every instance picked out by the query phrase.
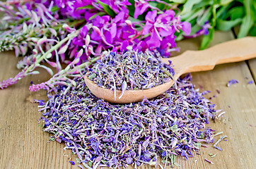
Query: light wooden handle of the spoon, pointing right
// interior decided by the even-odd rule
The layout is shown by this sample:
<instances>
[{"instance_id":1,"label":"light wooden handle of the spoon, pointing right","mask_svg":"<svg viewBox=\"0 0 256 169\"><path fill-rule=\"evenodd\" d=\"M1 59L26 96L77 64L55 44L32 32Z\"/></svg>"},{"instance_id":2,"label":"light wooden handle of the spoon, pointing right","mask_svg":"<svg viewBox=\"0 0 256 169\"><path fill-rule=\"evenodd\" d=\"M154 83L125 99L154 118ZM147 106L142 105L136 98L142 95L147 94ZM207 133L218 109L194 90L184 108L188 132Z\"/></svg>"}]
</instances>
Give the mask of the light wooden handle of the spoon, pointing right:
<instances>
[{"instance_id":1,"label":"light wooden handle of the spoon, pointing right","mask_svg":"<svg viewBox=\"0 0 256 169\"><path fill-rule=\"evenodd\" d=\"M223 42L202 51L185 51L170 59L179 75L190 72L212 70L215 65L245 61L256 57L256 37L244 37Z\"/></svg>"}]
</instances>

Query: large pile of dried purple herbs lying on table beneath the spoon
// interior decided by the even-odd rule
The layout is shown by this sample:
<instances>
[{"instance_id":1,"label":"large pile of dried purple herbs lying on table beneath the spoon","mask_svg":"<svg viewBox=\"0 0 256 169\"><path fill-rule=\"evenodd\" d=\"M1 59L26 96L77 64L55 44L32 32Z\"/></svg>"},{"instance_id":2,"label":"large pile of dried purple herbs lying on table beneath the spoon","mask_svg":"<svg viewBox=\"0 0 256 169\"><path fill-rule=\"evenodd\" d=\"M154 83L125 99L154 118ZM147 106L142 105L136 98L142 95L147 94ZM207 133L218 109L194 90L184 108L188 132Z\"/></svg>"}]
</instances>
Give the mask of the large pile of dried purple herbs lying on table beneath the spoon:
<instances>
[{"instance_id":1,"label":"large pile of dried purple herbs lying on table beneath the spoon","mask_svg":"<svg viewBox=\"0 0 256 169\"><path fill-rule=\"evenodd\" d=\"M44 130L65 142L81 167L177 165L176 156L192 157L205 146L202 142L214 142L214 130L206 127L216 117L214 104L190 79L187 75L178 80L177 89L154 99L110 104L91 94L82 77L75 77L76 87L65 94L64 85L47 94L49 100L40 109Z\"/></svg>"}]
</instances>

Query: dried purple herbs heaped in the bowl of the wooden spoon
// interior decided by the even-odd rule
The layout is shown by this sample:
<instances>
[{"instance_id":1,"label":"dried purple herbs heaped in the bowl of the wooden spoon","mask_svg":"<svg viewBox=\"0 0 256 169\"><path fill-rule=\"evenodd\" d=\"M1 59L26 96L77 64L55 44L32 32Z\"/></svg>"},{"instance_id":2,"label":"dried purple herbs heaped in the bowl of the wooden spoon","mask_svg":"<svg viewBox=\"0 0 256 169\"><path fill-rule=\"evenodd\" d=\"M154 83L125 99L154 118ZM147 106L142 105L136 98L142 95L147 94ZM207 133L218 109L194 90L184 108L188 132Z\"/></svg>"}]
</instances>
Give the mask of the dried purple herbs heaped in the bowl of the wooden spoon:
<instances>
[{"instance_id":1,"label":"dried purple herbs heaped in the bowl of the wooden spoon","mask_svg":"<svg viewBox=\"0 0 256 169\"><path fill-rule=\"evenodd\" d=\"M170 62L171 64L171 62ZM88 71L88 78L98 86L112 89L150 89L170 81L174 70L161 61L158 51L107 52Z\"/></svg>"}]
</instances>

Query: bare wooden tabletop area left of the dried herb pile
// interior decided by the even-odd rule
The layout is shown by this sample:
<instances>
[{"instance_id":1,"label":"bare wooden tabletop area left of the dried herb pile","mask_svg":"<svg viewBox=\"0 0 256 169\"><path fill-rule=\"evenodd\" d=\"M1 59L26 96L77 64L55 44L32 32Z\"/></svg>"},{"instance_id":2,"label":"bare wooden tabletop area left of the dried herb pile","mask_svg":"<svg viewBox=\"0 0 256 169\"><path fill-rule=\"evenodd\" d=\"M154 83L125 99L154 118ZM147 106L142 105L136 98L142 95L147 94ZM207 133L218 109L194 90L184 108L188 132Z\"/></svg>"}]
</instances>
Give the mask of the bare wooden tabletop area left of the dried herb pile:
<instances>
[{"instance_id":1,"label":"bare wooden tabletop area left of the dried herb pile","mask_svg":"<svg viewBox=\"0 0 256 169\"><path fill-rule=\"evenodd\" d=\"M13 52L0 54L0 80L18 73ZM30 81L44 82L50 76L26 77L8 89L0 90L0 168L71 168L63 156L64 144L47 143L50 134L42 132L37 121L41 114L33 99L46 99L45 91L29 92ZM66 151L70 154L71 151Z\"/></svg>"}]
</instances>

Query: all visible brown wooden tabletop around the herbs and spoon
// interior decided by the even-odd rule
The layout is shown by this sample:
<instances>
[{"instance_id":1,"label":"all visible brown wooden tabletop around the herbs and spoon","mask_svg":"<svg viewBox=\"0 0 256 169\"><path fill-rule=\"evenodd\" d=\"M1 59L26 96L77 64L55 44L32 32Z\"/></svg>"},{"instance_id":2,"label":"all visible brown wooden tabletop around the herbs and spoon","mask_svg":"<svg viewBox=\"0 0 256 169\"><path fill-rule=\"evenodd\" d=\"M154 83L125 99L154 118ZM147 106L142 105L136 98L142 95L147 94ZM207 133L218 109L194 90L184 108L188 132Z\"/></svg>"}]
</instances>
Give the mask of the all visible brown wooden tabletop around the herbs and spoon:
<instances>
[{"instance_id":1,"label":"all visible brown wooden tabletop around the herbs and spoon","mask_svg":"<svg viewBox=\"0 0 256 169\"><path fill-rule=\"evenodd\" d=\"M214 37L217 44L234 39L232 32L218 32ZM197 50L199 39L187 39L179 42L182 51ZM18 73L18 58L13 52L0 54L0 80L6 80ZM192 73L192 82L203 90L210 90L206 97L226 111L221 123L211 122L208 126L228 136L227 142L219 146L223 151L213 149L212 144L186 161L178 158L180 168L255 168L256 166L256 59L218 65L214 70L203 73ZM45 82L50 76L45 72L38 76L25 77L7 89L0 90L0 168L77 168L69 163L64 151L64 144L47 143L51 134L42 132L38 124L41 113L37 112L37 104L33 99L46 99L45 91L30 92L30 81L35 84ZM228 80L239 80L239 84L226 87ZM254 80L253 84L248 81ZM216 89L221 92L217 94ZM219 139L221 135L216 137ZM209 154L217 154L211 158ZM75 161L76 156L71 156ZM204 161L207 158L214 164ZM151 168L143 165L142 168ZM153 168L153 167L152 167Z\"/></svg>"}]
</instances>

